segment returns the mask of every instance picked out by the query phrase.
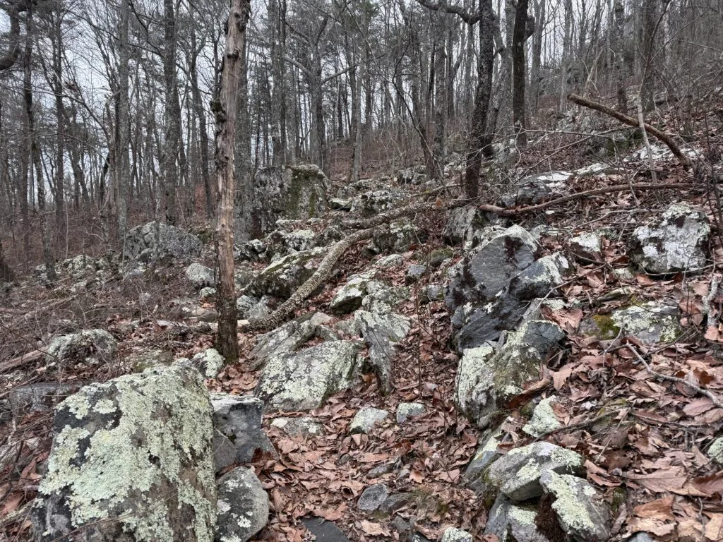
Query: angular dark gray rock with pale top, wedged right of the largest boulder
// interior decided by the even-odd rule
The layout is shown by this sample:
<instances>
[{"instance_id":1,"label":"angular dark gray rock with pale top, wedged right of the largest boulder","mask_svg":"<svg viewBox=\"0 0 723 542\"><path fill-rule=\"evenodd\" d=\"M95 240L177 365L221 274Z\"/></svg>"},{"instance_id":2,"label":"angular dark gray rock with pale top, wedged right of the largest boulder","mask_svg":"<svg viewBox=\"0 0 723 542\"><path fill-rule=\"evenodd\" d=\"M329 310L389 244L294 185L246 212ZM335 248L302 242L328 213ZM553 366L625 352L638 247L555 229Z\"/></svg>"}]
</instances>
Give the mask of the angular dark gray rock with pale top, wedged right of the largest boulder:
<instances>
[{"instance_id":1,"label":"angular dark gray rock with pale top, wedged right of the largest boulder","mask_svg":"<svg viewBox=\"0 0 723 542\"><path fill-rule=\"evenodd\" d=\"M264 452L273 449L268 437L261 430L263 403L256 397L218 393L211 396L211 404L214 447L221 448L221 436L226 436L233 442L236 454L232 463L249 463L257 450ZM216 470L230 464L223 463L225 460L216 457Z\"/></svg>"}]
</instances>

